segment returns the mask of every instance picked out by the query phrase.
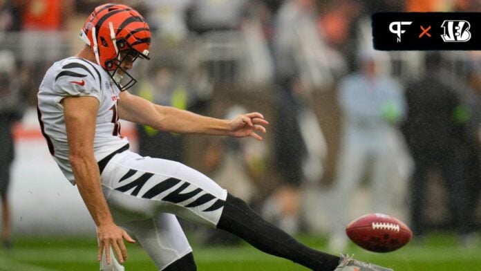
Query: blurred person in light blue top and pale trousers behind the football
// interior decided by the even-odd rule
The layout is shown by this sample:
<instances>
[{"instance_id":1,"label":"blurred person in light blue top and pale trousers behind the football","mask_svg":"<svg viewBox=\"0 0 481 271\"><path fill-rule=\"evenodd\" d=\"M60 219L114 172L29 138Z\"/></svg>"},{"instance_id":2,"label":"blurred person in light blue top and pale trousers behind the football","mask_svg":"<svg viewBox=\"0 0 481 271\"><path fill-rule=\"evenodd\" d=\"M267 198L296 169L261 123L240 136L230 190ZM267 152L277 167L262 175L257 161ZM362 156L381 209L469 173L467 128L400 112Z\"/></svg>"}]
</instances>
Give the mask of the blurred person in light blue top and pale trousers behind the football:
<instances>
[{"instance_id":1,"label":"blurred person in light blue top and pale trousers behind the football","mask_svg":"<svg viewBox=\"0 0 481 271\"><path fill-rule=\"evenodd\" d=\"M339 83L339 103L343 113L341 150L337 162L337 178L332 189L334 232L330 250L339 252L347 245L343 232L350 218L350 198L360 187L361 179L370 169L370 212L389 212L390 180L395 167L393 135L404 118L402 88L390 75L382 73L381 64L388 59L379 52L361 54L357 73Z\"/></svg>"}]
</instances>

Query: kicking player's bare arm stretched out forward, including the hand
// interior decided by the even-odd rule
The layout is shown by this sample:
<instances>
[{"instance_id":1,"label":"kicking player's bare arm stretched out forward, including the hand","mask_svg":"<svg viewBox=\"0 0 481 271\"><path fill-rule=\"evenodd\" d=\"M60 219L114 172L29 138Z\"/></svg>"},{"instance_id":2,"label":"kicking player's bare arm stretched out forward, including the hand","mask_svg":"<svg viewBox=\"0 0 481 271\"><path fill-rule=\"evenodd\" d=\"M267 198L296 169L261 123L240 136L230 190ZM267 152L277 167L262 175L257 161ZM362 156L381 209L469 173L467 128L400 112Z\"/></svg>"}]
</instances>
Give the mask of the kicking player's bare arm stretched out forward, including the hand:
<instances>
[{"instance_id":1,"label":"kicking player's bare arm stretched out forward, including the hand","mask_svg":"<svg viewBox=\"0 0 481 271\"><path fill-rule=\"evenodd\" d=\"M262 140L256 132L265 133L265 125L269 124L264 120L264 116L257 112L238 115L232 120L221 120L171 106L153 104L127 91L120 93L117 107L122 120L175 133L200 133L239 138L250 136Z\"/></svg>"}]
</instances>

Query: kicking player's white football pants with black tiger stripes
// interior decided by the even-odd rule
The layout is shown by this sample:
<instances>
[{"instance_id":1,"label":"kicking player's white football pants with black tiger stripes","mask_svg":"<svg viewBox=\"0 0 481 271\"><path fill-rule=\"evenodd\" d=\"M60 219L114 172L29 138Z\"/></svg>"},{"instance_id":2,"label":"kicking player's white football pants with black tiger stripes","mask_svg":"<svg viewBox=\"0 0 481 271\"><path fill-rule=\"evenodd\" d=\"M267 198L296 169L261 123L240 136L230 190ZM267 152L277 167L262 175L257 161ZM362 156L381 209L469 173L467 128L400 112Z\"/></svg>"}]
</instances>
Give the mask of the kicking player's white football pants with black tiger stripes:
<instances>
[{"instance_id":1,"label":"kicking player's white football pants with black tiger stripes","mask_svg":"<svg viewBox=\"0 0 481 271\"><path fill-rule=\"evenodd\" d=\"M133 234L162 270L192 249L176 216L216 227L227 191L180 162L118 153L101 174L117 225Z\"/></svg>"}]
</instances>

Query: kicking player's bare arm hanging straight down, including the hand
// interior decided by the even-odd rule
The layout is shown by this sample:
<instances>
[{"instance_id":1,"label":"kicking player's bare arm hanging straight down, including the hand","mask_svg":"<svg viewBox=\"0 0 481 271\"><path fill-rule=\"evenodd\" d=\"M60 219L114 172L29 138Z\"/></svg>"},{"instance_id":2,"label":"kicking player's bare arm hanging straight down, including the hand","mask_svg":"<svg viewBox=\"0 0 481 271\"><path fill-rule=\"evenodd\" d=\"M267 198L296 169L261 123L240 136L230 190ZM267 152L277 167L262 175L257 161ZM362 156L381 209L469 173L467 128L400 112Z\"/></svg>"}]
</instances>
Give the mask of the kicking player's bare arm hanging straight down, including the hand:
<instances>
[{"instance_id":1,"label":"kicking player's bare arm hanging straight down, including the hand","mask_svg":"<svg viewBox=\"0 0 481 271\"><path fill-rule=\"evenodd\" d=\"M123 239L133 239L115 225L100 185L100 171L93 152L95 122L99 102L95 97L65 97L62 100L66 133L69 147L69 161L75 176L79 193L97 225L99 261L105 251L107 264L111 263L110 247L117 259L123 263L127 257Z\"/></svg>"}]
</instances>

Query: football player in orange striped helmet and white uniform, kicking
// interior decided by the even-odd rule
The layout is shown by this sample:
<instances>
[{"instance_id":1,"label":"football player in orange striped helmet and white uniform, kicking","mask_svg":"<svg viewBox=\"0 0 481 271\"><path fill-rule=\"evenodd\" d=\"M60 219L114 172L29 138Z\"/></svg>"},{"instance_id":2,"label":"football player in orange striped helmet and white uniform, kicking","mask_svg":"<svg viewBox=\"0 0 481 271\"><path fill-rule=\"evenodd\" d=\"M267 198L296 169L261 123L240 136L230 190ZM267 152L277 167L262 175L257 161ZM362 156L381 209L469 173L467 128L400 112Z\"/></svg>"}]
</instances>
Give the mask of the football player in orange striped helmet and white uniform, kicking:
<instances>
[{"instance_id":1,"label":"football player in orange striped helmet and white uniform, kicking","mask_svg":"<svg viewBox=\"0 0 481 271\"><path fill-rule=\"evenodd\" d=\"M334 270L339 261L336 270L361 264L302 245L194 169L130 151L119 119L175 133L256 140L262 140L258 133L265 133L268 122L256 112L232 120L208 118L129 93L135 84L129 69L136 59L149 59L151 42L147 22L129 6L98 6L80 37L86 46L46 72L37 95L38 115L53 159L77 185L97 226L102 270L123 270L118 262L127 259L124 240L133 243L131 236L159 270L196 270L176 216L226 230L312 270Z\"/></svg>"}]
</instances>

